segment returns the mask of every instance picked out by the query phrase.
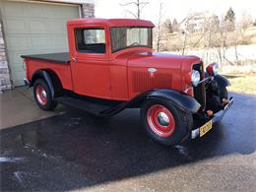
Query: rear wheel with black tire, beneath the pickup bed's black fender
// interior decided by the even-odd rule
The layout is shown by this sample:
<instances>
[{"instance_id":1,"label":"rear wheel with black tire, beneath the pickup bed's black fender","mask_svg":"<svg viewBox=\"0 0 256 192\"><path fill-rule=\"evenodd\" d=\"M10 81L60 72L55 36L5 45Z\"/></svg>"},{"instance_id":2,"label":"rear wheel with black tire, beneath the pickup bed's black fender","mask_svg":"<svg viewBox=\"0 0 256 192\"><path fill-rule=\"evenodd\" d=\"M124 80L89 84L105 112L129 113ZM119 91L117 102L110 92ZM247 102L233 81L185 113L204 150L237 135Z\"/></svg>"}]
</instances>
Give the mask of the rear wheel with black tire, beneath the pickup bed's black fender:
<instances>
[{"instance_id":1,"label":"rear wheel with black tire, beneath the pickup bed's black fender","mask_svg":"<svg viewBox=\"0 0 256 192\"><path fill-rule=\"evenodd\" d=\"M36 90L38 88L43 88L46 93L46 96L44 96L43 101L40 100L40 98L38 98L41 96L38 96L38 93L36 93L36 91L38 92L38 90ZM42 79L35 80L33 84L33 97L39 108L41 108L42 110L50 111L54 110L57 107L58 102L52 99L49 86Z\"/></svg>"}]
</instances>

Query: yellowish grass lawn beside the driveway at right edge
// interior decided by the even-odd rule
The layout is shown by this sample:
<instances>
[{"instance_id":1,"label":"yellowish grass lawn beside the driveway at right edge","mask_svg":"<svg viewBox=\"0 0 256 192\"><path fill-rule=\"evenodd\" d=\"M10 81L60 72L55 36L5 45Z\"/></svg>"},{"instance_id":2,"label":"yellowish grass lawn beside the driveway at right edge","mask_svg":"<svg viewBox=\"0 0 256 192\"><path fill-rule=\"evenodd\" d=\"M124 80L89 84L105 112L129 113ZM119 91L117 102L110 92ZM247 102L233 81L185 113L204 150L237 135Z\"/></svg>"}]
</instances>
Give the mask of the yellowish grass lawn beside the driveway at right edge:
<instances>
[{"instance_id":1,"label":"yellowish grass lawn beside the driveway at right edge","mask_svg":"<svg viewBox=\"0 0 256 192\"><path fill-rule=\"evenodd\" d=\"M256 95L256 74L224 75L231 83L227 88L230 92Z\"/></svg>"}]
</instances>

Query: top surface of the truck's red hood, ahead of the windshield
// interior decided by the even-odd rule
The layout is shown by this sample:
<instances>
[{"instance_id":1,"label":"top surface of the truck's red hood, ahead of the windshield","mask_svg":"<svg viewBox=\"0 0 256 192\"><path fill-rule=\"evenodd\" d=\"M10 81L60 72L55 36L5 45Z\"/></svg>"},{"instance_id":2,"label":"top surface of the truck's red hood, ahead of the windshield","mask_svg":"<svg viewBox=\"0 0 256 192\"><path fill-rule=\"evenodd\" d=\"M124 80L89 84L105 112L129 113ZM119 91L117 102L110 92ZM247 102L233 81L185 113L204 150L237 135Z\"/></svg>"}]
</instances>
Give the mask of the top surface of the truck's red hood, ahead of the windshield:
<instances>
[{"instance_id":1,"label":"top surface of the truck's red hood, ahead of the windshield","mask_svg":"<svg viewBox=\"0 0 256 192\"><path fill-rule=\"evenodd\" d=\"M190 67L193 63L200 62L201 59L192 55L174 55L169 53L137 52L128 57L127 65L131 67L156 67L180 69ZM189 65L189 66L187 66Z\"/></svg>"}]
</instances>

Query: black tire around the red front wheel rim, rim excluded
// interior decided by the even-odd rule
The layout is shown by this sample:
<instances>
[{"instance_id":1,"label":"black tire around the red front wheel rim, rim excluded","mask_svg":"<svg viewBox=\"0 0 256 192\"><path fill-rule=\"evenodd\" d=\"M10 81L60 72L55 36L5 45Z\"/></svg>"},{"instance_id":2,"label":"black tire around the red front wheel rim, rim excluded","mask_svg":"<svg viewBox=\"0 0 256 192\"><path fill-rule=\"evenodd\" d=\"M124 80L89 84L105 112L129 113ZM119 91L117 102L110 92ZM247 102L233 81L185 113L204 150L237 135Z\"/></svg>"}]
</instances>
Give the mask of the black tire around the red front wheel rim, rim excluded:
<instances>
[{"instance_id":1,"label":"black tire around the red front wheel rim, rim excluded","mask_svg":"<svg viewBox=\"0 0 256 192\"><path fill-rule=\"evenodd\" d=\"M148 110L156 104L160 104L167 108L169 112L172 114L172 117L175 121L175 126L172 134L167 137L161 137L160 135L156 134L151 128L149 121L148 121ZM157 100L151 99L145 101L141 108L141 120L144 129L148 133L148 135L155 141L159 142L165 146L174 146L180 144L183 140L185 140L189 135L193 125L193 117L192 113L184 112L178 107L174 106L170 102L166 100Z\"/></svg>"}]
</instances>

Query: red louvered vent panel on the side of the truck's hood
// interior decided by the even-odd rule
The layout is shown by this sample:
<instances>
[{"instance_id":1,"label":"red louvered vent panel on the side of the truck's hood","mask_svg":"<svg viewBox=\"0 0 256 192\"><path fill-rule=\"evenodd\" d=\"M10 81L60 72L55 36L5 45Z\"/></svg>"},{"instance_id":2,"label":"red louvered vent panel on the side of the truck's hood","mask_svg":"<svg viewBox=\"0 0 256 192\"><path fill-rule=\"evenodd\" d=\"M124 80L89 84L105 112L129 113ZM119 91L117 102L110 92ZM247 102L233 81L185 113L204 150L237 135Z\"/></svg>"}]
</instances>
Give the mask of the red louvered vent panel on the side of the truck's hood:
<instances>
[{"instance_id":1,"label":"red louvered vent panel on the side of the truck's hood","mask_svg":"<svg viewBox=\"0 0 256 192\"><path fill-rule=\"evenodd\" d=\"M149 72L132 72L133 91L142 93L156 88L171 88L171 75L156 73L152 76Z\"/></svg>"}]
</instances>

